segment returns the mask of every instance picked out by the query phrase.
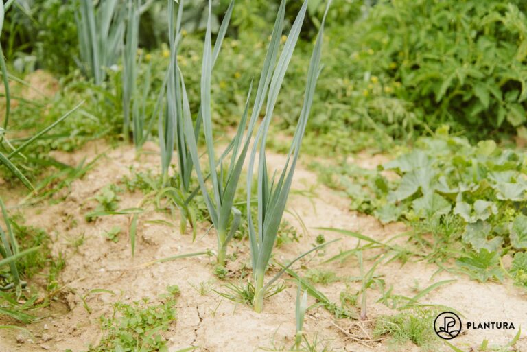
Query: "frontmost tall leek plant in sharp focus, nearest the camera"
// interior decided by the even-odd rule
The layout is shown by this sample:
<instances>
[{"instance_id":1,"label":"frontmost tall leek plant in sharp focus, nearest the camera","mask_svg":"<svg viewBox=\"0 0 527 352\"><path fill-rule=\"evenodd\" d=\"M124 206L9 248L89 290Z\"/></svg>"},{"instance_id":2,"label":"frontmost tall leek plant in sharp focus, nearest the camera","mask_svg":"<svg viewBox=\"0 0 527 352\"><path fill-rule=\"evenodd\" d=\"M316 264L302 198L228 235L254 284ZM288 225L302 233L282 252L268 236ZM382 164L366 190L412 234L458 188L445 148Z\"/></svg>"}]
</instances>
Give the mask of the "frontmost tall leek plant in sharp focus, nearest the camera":
<instances>
[{"instance_id":1,"label":"frontmost tall leek plant in sharp focus, nearest the camera","mask_svg":"<svg viewBox=\"0 0 527 352\"><path fill-rule=\"evenodd\" d=\"M274 248L274 242L277 238L277 232L282 219L283 211L285 210L285 203L288 200L291 183L294 175L296 162L298 161L298 153L300 152L309 111L311 110L313 96L315 93L316 81L320 70L320 56L322 54L322 42L325 18L331 0L327 3L326 11L320 30L316 38L316 43L313 49L311 61L309 62L309 70L307 73L307 84L305 87L305 97L303 108L296 125L293 141L288 152L288 156L279 178L276 178L276 172L272 178L269 178L267 163L266 163L266 139L269 132L270 121L272 118L272 111L276 97L279 93L281 80L285 75L285 68L290 60L294 45L300 34L301 26L304 20L305 12L307 10L306 0L296 16L296 20L292 25L291 32L288 39L285 41L283 52L277 63L277 69L273 75L270 84L270 99L266 108L266 115L262 121L257 136L255 137L255 145L250 154L250 161L248 165L247 178L247 218L249 228L249 242L250 253L253 266L253 280L255 281L255 298L253 307L255 312L261 312L264 305L264 296L269 285L274 282L276 277L264 285L264 277L269 266L269 261ZM282 15L283 16L283 15ZM283 19L282 19L283 20ZM257 166L257 228L253 222L253 217L250 212L251 205L251 189L253 187L253 172L255 171L255 159L257 151L259 151L259 160Z\"/></svg>"}]
</instances>

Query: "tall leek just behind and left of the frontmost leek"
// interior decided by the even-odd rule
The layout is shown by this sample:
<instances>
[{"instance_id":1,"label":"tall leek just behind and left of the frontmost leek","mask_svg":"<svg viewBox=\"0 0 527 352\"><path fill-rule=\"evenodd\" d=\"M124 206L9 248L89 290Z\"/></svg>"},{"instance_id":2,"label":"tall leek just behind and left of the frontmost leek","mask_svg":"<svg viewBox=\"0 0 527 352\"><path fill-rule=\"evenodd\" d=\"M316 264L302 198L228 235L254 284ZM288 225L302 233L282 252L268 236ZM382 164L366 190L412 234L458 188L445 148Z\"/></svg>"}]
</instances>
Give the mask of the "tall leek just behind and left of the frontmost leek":
<instances>
[{"instance_id":1,"label":"tall leek just behind and left of the frontmost leek","mask_svg":"<svg viewBox=\"0 0 527 352\"><path fill-rule=\"evenodd\" d=\"M303 7L304 14L305 8L307 6L306 4ZM296 44L296 40L298 40L298 34L303 16L299 16L298 21L296 21L294 30L292 30L292 36L290 36L288 42L286 43L286 49L283 50L281 60L279 60L278 64L276 64L281 33L283 30L284 14L285 1L282 1L278 11L277 19L274 23L270 45L264 60L264 67L261 71L255 102L250 114L250 118L248 110L253 87L252 83L248 91L244 113L240 119L237 132L233 141L231 141L231 144L229 145L232 148L230 152L230 162L228 165L224 166L222 159L220 159L220 162L218 163L215 161L216 156L212 133L211 71L213 62L215 62L215 59L218 56L218 50L216 47L214 51L211 50L211 1L209 1L209 16L207 19L207 30L205 33L201 75L201 114L198 114L198 118L200 117L199 115L201 115L207 150L206 154L211 178L210 193L207 185L205 184L206 179L203 176L203 172L199 163L196 131L192 125L185 82L183 80L183 75L180 76L183 92L183 126L185 128L185 139L189 145L189 152L195 165L196 176L204 196L205 204L207 204L207 209L211 216L213 227L217 232L217 261L219 264L225 263L227 245L233 238L233 235L239 226L241 212L239 209L234 207L234 197L237 185L239 183L239 178L242 174L242 167L249 149L250 139L253 134L253 130L255 129L257 117L259 116L261 108L263 107L266 100L266 111L268 113L272 111L272 107L274 107L274 104L276 104L279 89L283 82L283 76L285 75L285 71L292 56L292 48Z\"/></svg>"}]
</instances>

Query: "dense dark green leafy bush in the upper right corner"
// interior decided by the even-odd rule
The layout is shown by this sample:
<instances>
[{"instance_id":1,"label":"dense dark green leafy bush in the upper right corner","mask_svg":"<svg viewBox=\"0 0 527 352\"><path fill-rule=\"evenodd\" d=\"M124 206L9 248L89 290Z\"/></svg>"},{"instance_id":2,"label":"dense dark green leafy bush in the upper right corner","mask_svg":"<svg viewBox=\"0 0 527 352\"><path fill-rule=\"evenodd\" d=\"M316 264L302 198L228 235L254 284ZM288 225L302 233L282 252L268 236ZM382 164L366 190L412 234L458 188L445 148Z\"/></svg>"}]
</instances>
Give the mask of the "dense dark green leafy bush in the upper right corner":
<instances>
[{"instance_id":1,"label":"dense dark green leafy bush in the upper right corner","mask_svg":"<svg viewBox=\"0 0 527 352\"><path fill-rule=\"evenodd\" d=\"M527 107L527 25L519 4L383 1L355 31L355 62L409 104L420 126L449 123L476 138L510 131L524 124ZM394 82L398 88L390 88Z\"/></svg>"}]
</instances>

